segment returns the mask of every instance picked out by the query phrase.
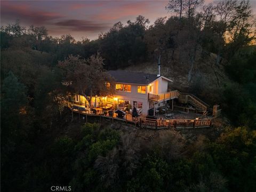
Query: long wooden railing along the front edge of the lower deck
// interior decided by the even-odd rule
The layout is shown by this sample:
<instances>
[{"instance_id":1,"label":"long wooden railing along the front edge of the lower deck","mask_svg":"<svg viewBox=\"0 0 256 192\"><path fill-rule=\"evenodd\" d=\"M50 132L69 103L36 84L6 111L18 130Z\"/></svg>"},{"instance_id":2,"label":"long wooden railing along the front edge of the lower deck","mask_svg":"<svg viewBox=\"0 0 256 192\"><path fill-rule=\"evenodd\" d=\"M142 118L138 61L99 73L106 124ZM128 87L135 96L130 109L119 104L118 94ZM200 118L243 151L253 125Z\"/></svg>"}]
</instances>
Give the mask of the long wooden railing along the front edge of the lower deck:
<instances>
[{"instance_id":1,"label":"long wooden railing along the front edge of the lower deck","mask_svg":"<svg viewBox=\"0 0 256 192\"><path fill-rule=\"evenodd\" d=\"M88 114L87 111L83 110L77 110L73 109L71 107L72 105L68 103L68 108L72 111L72 116L73 113L78 114L79 118L84 118L85 121L87 122L88 118L90 117L97 117L99 118L99 121L102 121L102 119L110 119L112 123L115 121L121 121L124 123L129 123L134 126L138 127L143 127L143 128L148 128L148 129L155 129L155 130L160 130L160 129L196 129L196 128L203 128L203 127L210 127L212 123L211 118L207 119L148 119L145 116L140 116L138 118L132 118L131 114L126 114L124 118L119 118L116 116L114 113L114 116L109 116L107 115L99 115L99 114Z\"/></svg>"}]
</instances>

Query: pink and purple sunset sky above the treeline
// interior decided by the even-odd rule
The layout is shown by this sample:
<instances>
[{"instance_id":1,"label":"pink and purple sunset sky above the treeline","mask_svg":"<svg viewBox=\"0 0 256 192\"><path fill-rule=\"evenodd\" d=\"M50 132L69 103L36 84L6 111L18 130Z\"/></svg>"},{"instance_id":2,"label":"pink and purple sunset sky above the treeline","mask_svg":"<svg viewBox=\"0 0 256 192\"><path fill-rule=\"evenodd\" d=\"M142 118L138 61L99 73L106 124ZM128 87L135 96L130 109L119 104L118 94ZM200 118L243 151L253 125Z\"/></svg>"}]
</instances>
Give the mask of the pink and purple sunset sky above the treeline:
<instances>
[{"instance_id":1,"label":"pink and purple sunset sky above the treeline","mask_svg":"<svg viewBox=\"0 0 256 192\"><path fill-rule=\"evenodd\" d=\"M115 22L143 15L154 23L170 16L168 1L1 1L1 26L19 19L22 26L45 26L49 35L70 34L95 39ZM207 2L212 2L208 0ZM251 1L253 10L256 1ZM254 11L255 12L255 11Z\"/></svg>"}]
</instances>

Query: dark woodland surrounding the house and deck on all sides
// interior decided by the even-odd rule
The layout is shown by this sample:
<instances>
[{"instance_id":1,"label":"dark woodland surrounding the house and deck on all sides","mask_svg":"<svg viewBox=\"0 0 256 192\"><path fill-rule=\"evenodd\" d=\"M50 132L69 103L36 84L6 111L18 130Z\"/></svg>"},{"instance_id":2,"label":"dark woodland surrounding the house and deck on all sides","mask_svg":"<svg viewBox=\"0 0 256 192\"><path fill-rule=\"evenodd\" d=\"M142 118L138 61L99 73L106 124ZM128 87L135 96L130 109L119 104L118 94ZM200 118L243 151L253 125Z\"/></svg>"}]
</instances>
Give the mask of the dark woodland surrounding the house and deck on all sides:
<instances>
[{"instance_id":1,"label":"dark woodland surrounding the house and deck on all sides","mask_svg":"<svg viewBox=\"0 0 256 192\"><path fill-rule=\"evenodd\" d=\"M54 38L45 27L25 28L19 22L1 28L3 191L49 191L52 185L70 185L74 191L256 190L255 19L250 3L172 0L166 9L177 16L158 18L153 25L142 16L126 25L117 22L94 41ZM58 65L69 55L86 62L101 55L106 69L156 62L161 55L166 67L186 67L191 82L195 63L210 53L231 79L220 87L231 127L218 139L186 142L168 131L147 143L98 124L72 131L80 125L70 123L63 105L67 87Z\"/></svg>"}]
</instances>

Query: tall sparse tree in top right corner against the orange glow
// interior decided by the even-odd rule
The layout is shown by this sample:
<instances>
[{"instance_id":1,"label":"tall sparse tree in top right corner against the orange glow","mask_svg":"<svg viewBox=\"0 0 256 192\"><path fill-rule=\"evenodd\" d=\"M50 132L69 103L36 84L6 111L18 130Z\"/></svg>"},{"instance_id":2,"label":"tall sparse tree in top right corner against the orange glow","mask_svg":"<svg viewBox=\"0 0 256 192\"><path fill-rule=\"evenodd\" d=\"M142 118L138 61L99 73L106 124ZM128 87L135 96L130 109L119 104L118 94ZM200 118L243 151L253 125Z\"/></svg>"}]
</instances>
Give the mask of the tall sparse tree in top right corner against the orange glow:
<instances>
[{"instance_id":1,"label":"tall sparse tree in top right corner against the orange glow","mask_svg":"<svg viewBox=\"0 0 256 192\"><path fill-rule=\"evenodd\" d=\"M219 65L223 51L230 60L236 51L255 38L255 18L249 0L218 1L214 4L214 13L219 19L214 27L218 34L215 42L218 49L216 64Z\"/></svg>"}]
</instances>

